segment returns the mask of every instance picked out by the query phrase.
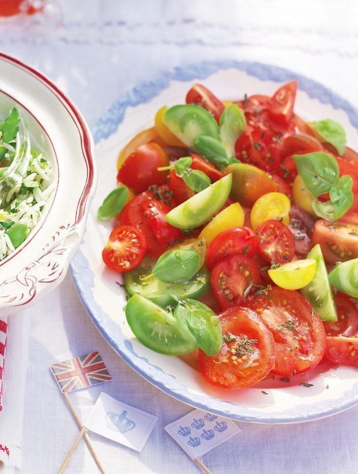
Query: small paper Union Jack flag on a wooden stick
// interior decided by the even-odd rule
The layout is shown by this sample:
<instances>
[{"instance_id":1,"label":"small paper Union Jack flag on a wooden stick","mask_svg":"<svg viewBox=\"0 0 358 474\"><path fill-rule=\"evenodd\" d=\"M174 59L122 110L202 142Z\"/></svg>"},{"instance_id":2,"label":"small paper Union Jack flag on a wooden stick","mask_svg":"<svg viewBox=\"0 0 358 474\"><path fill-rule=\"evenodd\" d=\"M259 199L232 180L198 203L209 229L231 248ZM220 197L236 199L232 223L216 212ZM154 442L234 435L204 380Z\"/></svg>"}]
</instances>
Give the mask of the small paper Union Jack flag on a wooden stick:
<instances>
[{"instance_id":1,"label":"small paper Union Jack flag on a wooden stick","mask_svg":"<svg viewBox=\"0 0 358 474\"><path fill-rule=\"evenodd\" d=\"M50 369L63 393L74 392L111 380L98 352L57 362L50 365Z\"/></svg>"}]
</instances>

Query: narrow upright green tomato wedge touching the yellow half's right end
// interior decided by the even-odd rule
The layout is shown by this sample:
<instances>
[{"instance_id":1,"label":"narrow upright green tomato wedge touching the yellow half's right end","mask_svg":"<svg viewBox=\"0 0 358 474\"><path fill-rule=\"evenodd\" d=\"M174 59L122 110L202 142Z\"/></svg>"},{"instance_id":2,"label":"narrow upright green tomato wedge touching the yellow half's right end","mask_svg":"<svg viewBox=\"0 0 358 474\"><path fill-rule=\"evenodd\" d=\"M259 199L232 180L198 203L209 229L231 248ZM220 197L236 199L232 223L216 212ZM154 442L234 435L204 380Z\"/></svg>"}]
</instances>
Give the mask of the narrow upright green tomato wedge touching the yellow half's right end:
<instances>
[{"instance_id":1,"label":"narrow upright green tomato wedge touching the yellow half's right end","mask_svg":"<svg viewBox=\"0 0 358 474\"><path fill-rule=\"evenodd\" d=\"M314 245L307 258L316 261L316 271L310 283L301 289L301 294L312 304L322 321L337 321L337 309L319 243Z\"/></svg>"}]
</instances>

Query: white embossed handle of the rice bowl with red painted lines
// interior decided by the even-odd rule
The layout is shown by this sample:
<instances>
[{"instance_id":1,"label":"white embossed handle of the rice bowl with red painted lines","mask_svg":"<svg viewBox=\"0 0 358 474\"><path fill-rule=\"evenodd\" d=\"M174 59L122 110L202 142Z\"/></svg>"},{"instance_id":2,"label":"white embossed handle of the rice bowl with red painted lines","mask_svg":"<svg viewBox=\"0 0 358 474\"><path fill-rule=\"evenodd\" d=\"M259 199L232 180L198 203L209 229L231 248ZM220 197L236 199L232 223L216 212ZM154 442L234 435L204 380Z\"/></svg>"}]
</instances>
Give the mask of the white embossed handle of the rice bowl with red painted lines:
<instances>
[{"instance_id":1,"label":"white embossed handle of the rice bowl with red painted lines","mask_svg":"<svg viewBox=\"0 0 358 474\"><path fill-rule=\"evenodd\" d=\"M0 282L0 314L21 311L40 292L44 294L53 289L54 283L59 284L66 275L81 235L78 223L61 226L37 260L17 275Z\"/></svg>"}]
</instances>

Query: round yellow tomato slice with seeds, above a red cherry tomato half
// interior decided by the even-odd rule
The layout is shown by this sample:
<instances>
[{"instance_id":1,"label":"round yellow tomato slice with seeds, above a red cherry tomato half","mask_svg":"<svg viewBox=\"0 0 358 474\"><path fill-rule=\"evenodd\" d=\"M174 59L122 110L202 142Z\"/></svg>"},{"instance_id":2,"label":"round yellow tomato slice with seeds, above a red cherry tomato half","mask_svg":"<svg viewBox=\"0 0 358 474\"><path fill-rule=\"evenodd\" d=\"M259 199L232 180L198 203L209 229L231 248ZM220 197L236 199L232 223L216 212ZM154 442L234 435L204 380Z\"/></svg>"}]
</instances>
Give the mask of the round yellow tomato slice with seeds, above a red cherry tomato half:
<instances>
[{"instance_id":1,"label":"round yellow tomato slice with seeds, above a red cherry tomato half","mask_svg":"<svg viewBox=\"0 0 358 474\"><path fill-rule=\"evenodd\" d=\"M260 224L270 219L281 221L286 226L290 222L290 199L283 193L267 193L252 206L251 227L256 231Z\"/></svg>"}]
</instances>

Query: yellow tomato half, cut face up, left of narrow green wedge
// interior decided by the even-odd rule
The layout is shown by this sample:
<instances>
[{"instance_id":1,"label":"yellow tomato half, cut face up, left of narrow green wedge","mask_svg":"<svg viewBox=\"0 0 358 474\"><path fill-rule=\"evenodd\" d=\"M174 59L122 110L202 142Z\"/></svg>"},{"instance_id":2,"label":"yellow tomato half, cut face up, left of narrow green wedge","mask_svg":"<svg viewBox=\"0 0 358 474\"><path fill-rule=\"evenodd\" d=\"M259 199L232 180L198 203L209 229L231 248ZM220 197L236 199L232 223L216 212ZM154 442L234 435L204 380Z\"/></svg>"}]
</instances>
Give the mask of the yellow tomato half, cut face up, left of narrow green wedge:
<instances>
[{"instance_id":1,"label":"yellow tomato half, cut face up, left of narrow green wedge","mask_svg":"<svg viewBox=\"0 0 358 474\"><path fill-rule=\"evenodd\" d=\"M298 290L308 285L316 271L314 258L296 260L268 270L271 280L286 290Z\"/></svg>"}]
</instances>

